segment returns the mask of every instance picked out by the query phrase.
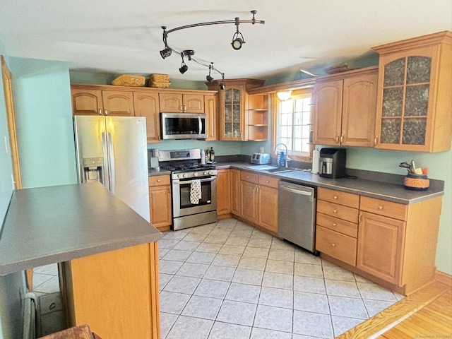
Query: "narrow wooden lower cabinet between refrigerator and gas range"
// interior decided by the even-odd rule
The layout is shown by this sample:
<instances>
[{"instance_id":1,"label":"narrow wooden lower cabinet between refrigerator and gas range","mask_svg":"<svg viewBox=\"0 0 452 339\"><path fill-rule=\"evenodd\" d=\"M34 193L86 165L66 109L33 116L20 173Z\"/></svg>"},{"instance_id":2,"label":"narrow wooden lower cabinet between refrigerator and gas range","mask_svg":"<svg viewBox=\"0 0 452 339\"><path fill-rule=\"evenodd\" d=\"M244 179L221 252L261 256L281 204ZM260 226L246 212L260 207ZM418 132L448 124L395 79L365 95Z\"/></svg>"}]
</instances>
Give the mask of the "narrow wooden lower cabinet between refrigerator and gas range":
<instances>
[{"instance_id":1,"label":"narrow wooden lower cabinet between refrigerator and gas range","mask_svg":"<svg viewBox=\"0 0 452 339\"><path fill-rule=\"evenodd\" d=\"M150 223L158 230L167 230L172 223L169 175L149 177L148 180Z\"/></svg>"}]
</instances>

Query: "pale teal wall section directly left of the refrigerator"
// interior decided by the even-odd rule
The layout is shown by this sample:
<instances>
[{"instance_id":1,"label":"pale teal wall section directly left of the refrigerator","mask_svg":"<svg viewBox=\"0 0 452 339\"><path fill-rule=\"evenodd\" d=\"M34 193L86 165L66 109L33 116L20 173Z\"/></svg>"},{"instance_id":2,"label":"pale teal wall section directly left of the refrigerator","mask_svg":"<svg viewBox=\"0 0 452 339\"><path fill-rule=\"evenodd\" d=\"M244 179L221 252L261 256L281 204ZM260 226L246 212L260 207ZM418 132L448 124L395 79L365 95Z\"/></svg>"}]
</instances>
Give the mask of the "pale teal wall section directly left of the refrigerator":
<instances>
[{"instance_id":1,"label":"pale teal wall section directly left of the refrigerator","mask_svg":"<svg viewBox=\"0 0 452 339\"><path fill-rule=\"evenodd\" d=\"M23 188L76 184L69 66L10 58Z\"/></svg>"}]
</instances>

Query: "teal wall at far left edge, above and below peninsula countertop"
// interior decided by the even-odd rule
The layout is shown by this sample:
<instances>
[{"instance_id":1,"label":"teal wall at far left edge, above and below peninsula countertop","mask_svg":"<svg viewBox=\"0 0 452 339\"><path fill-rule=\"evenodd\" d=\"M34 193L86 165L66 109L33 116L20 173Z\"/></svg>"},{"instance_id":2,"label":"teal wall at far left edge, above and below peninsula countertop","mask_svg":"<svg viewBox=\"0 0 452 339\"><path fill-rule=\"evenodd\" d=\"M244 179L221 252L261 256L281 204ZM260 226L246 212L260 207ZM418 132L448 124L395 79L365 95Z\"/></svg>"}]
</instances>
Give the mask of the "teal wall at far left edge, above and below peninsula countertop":
<instances>
[{"instance_id":1,"label":"teal wall at far left edge, above and below peninsula countertop","mask_svg":"<svg viewBox=\"0 0 452 339\"><path fill-rule=\"evenodd\" d=\"M8 64L8 55L0 36L0 54ZM0 234L11 194L13 193L13 168L9 145L8 124L3 81L0 81ZM6 145L5 145L6 143ZM0 276L0 339L21 338L22 298L25 293L23 272Z\"/></svg>"}]
</instances>

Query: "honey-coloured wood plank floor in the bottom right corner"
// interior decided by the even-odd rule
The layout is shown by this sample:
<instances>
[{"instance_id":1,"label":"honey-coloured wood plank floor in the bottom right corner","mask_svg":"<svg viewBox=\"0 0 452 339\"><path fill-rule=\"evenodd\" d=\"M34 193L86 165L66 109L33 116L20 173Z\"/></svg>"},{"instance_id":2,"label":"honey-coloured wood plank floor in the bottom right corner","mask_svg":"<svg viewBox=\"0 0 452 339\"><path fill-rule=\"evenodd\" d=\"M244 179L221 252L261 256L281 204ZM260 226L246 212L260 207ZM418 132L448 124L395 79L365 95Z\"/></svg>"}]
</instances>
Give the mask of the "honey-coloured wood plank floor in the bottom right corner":
<instances>
[{"instance_id":1,"label":"honey-coloured wood plank floor in the bottom right corner","mask_svg":"<svg viewBox=\"0 0 452 339\"><path fill-rule=\"evenodd\" d=\"M451 338L451 335L451 287L435 282L338 338Z\"/></svg>"}]
</instances>

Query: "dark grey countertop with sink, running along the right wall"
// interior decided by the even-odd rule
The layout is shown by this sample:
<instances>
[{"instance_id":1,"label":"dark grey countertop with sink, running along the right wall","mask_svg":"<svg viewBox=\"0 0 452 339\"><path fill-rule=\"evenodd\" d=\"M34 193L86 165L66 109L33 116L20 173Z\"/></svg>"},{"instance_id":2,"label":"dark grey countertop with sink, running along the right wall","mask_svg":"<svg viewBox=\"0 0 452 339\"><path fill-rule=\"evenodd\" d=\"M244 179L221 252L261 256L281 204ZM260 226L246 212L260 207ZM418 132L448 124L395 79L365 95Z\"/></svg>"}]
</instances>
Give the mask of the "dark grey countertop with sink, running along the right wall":
<instances>
[{"instance_id":1,"label":"dark grey countertop with sink, running along the right wall","mask_svg":"<svg viewBox=\"0 0 452 339\"><path fill-rule=\"evenodd\" d=\"M441 180L430 179L430 187L427 191L410 191L403 186L403 176L397 174L351 170L348 172L355 174L357 177L356 179L351 179L350 177L329 179L320 177L319 174L304 172L303 170L278 174L268 172L267 170L256 170L249 168L253 166L249 162L218 162L216 166L218 169L243 169L250 172L278 177L281 180L295 182L297 184L337 189L338 191L345 191L406 205L444 195L444 182Z\"/></svg>"}]
</instances>

